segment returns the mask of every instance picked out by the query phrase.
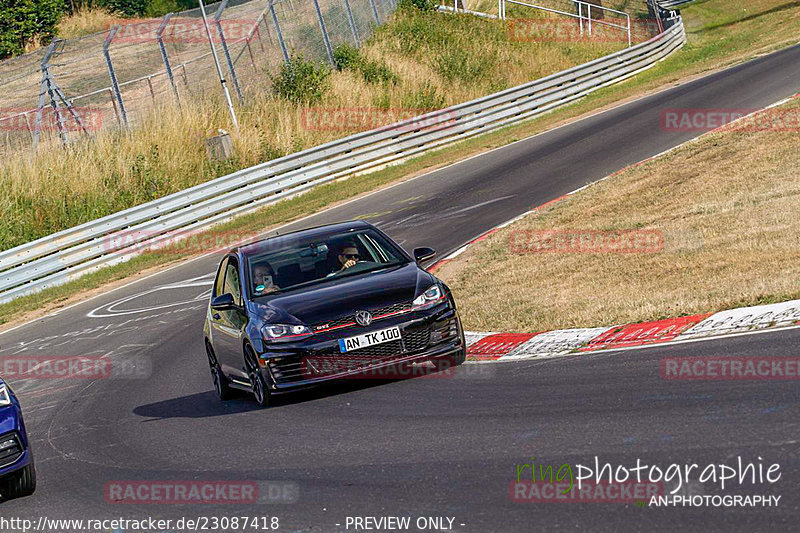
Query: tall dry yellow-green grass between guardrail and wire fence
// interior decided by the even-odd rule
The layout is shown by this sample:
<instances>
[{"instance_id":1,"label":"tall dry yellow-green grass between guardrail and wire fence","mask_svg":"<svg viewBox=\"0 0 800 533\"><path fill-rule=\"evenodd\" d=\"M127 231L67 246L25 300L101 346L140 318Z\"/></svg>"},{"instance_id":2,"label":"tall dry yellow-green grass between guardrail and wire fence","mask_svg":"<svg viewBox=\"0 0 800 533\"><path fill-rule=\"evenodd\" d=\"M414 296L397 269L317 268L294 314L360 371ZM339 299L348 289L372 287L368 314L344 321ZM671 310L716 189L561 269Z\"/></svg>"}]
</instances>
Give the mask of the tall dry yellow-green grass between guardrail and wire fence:
<instances>
[{"instance_id":1,"label":"tall dry yellow-green grass between guardrail and wire fence","mask_svg":"<svg viewBox=\"0 0 800 533\"><path fill-rule=\"evenodd\" d=\"M330 90L314 107L373 109L370 114L378 119L383 109L417 114L530 81L622 46L512 42L499 21L399 12L362 50L365 57L384 63L398 83L368 83L357 72L334 72ZM165 105L149 115L131 113L136 126L129 134L101 131L68 149L53 135L33 157L27 149L5 155L0 165L0 187L7 193L0 199L0 249L354 132L309 128L305 109L269 93L265 72L246 74L248 105L237 106L236 157L226 163L207 161L204 148L204 140L217 129L233 131L218 87L205 97L184 98L182 111ZM145 86L141 91L140 96L149 99ZM385 116L388 120L391 114Z\"/></svg>"}]
</instances>

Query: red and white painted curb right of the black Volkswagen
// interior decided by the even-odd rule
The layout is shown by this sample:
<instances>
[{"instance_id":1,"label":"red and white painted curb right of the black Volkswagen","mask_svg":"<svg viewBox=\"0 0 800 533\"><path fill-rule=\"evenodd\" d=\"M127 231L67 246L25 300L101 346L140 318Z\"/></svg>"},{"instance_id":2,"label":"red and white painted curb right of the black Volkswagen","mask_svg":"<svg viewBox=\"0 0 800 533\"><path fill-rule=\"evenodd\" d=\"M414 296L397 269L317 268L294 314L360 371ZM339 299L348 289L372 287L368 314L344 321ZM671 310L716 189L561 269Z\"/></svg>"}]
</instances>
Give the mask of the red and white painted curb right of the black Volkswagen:
<instances>
[{"instance_id":1,"label":"red and white painted curb right of the black Volkswagen","mask_svg":"<svg viewBox=\"0 0 800 533\"><path fill-rule=\"evenodd\" d=\"M541 333L465 333L467 361L519 361L800 325L800 300L652 322Z\"/></svg>"}]
</instances>

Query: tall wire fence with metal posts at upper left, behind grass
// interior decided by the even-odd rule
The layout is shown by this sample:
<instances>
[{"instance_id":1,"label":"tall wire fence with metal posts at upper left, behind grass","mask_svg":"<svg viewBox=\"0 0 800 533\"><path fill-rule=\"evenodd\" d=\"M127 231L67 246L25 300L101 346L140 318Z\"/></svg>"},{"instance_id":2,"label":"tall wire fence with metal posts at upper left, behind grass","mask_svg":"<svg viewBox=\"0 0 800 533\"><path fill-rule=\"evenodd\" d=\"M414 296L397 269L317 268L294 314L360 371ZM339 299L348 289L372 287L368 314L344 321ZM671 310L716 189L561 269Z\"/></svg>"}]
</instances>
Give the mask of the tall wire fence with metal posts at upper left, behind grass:
<instances>
[{"instance_id":1,"label":"tall wire fence with metal posts at upper left, behind grass","mask_svg":"<svg viewBox=\"0 0 800 533\"><path fill-rule=\"evenodd\" d=\"M223 0L205 10L232 98L244 103L292 55L332 62L337 45L360 46L396 7L397 0ZM135 127L159 106L206 93L221 98L199 7L126 22L0 63L0 151Z\"/></svg>"}]
</instances>

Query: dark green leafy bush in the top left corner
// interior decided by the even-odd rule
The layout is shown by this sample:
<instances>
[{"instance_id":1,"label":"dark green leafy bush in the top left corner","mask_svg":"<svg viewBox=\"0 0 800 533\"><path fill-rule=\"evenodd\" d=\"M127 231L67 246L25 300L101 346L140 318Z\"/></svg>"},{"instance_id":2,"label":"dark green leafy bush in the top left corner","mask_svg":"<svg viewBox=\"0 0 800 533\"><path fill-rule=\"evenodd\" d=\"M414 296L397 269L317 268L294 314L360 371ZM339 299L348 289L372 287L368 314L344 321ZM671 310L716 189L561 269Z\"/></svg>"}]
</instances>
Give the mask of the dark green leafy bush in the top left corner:
<instances>
[{"instance_id":1,"label":"dark green leafy bush in the top left corner","mask_svg":"<svg viewBox=\"0 0 800 533\"><path fill-rule=\"evenodd\" d=\"M0 59L21 54L25 45L55 35L64 0L16 0L0 9Z\"/></svg>"}]
</instances>

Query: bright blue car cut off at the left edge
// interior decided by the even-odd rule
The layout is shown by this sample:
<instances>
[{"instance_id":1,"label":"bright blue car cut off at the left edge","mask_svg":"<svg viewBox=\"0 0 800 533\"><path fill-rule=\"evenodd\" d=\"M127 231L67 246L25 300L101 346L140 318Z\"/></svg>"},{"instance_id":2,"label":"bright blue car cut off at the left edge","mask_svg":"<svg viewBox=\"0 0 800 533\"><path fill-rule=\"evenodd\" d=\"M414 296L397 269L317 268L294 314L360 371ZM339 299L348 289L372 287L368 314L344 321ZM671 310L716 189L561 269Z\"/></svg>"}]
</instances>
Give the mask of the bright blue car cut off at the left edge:
<instances>
[{"instance_id":1,"label":"bright blue car cut off at the left edge","mask_svg":"<svg viewBox=\"0 0 800 533\"><path fill-rule=\"evenodd\" d=\"M36 469L22 409L11 387L0 379L0 499L29 496L35 490Z\"/></svg>"}]
</instances>

